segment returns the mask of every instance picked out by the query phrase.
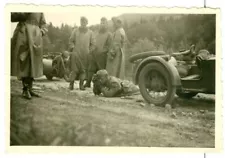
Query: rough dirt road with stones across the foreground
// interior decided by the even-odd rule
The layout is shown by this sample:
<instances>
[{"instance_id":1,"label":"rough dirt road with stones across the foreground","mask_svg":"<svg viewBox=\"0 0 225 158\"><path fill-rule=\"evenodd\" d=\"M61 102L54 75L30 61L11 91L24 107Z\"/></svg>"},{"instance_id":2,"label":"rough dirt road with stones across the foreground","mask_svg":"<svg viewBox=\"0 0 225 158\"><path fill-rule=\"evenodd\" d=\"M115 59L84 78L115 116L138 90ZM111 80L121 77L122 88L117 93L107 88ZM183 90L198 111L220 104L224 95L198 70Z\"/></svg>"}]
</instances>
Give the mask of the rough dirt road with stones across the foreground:
<instances>
[{"instance_id":1,"label":"rough dirt road with stones across the foreground","mask_svg":"<svg viewBox=\"0 0 225 158\"><path fill-rule=\"evenodd\" d=\"M21 97L11 79L12 145L214 147L214 96L177 98L175 109L146 104L140 95L103 98L67 89L62 80L35 82L41 98Z\"/></svg>"}]
</instances>

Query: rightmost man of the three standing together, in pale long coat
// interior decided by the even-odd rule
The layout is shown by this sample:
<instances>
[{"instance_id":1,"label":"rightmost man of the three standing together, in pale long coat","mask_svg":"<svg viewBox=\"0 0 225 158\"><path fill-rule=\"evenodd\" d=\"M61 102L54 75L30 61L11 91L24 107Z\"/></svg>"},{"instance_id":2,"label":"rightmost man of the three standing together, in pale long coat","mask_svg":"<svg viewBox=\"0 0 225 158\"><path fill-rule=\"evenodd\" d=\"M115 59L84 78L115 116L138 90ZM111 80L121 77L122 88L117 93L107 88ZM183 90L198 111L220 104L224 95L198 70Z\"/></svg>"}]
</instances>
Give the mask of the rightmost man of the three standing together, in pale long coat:
<instances>
[{"instance_id":1,"label":"rightmost man of the three standing together, in pale long coat","mask_svg":"<svg viewBox=\"0 0 225 158\"><path fill-rule=\"evenodd\" d=\"M112 37L111 49L108 53L106 70L109 75L124 79L125 73L125 31L122 28L122 21L118 18L112 18L115 32Z\"/></svg>"}]
</instances>

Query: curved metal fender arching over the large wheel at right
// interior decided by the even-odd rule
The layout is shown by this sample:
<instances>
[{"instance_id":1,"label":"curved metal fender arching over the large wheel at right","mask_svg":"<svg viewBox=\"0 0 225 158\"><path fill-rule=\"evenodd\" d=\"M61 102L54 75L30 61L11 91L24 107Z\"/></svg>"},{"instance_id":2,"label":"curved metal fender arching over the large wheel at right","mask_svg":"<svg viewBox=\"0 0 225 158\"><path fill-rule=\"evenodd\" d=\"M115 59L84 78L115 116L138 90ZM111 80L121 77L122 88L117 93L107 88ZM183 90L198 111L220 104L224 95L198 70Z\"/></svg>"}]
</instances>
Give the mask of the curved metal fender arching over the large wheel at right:
<instances>
[{"instance_id":1,"label":"curved metal fender arching over the large wheel at right","mask_svg":"<svg viewBox=\"0 0 225 158\"><path fill-rule=\"evenodd\" d=\"M134 83L135 84L138 84L138 76L139 76L139 73L141 71L141 69L151 63L151 62L158 62L160 64L162 64L168 71L169 71L169 74L171 74L171 77L172 77L172 84L174 86L181 86L181 80L180 80L180 76L179 76L179 73L176 69L176 67L171 64L171 63L168 63L167 61L165 61L165 59L163 59L162 57L159 57L159 56L151 56L151 57L148 57L144 60L142 60L136 70L135 70L135 75L134 75Z\"/></svg>"}]
</instances>

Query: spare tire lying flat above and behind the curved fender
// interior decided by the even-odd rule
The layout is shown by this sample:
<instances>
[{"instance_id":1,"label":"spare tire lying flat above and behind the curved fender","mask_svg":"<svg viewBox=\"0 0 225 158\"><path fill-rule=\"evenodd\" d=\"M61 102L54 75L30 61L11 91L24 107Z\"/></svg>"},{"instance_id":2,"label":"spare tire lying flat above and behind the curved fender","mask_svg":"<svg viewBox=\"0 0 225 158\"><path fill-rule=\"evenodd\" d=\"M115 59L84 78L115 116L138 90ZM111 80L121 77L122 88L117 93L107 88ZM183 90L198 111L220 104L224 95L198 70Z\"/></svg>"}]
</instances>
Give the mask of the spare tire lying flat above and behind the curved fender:
<instances>
[{"instance_id":1,"label":"spare tire lying flat above and behind the curved fender","mask_svg":"<svg viewBox=\"0 0 225 158\"><path fill-rule=\"evenodd\" d=\"M150 56L161 56L161 55L166 55L166 53L163 51L148 51L148 52L138 53L138 54L132 55L129 58L129 62L133 63L138 59L143 59Z\"/></svg>"}]
</instances>

